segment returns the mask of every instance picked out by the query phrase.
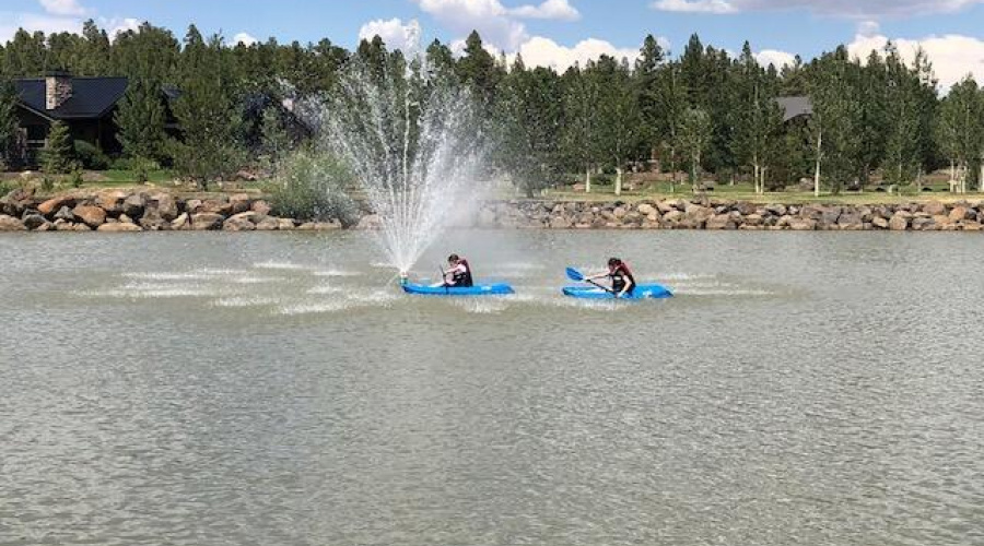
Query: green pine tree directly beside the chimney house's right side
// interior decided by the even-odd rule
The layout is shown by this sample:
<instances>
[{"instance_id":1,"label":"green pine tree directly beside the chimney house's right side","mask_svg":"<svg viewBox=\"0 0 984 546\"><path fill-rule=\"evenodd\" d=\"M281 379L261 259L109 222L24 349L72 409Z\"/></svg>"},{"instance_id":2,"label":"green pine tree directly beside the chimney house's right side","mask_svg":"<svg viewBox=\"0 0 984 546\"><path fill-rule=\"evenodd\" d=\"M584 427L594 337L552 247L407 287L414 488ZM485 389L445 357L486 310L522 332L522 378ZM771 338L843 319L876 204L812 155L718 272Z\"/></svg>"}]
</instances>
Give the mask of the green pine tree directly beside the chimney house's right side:
<instances>
[{"instance_id":1,"label":"green pine tree directly beside the chimney house's right side","mask_svg":"<svg viewBox=\"0 0 984 546\"><path fill-rule=\"evenodd\" d=\"M130 80L115 117L124 153L157 163L164 159L167 142L164 118L161 84L143 78Z\"/></svg>"}]
</instances>

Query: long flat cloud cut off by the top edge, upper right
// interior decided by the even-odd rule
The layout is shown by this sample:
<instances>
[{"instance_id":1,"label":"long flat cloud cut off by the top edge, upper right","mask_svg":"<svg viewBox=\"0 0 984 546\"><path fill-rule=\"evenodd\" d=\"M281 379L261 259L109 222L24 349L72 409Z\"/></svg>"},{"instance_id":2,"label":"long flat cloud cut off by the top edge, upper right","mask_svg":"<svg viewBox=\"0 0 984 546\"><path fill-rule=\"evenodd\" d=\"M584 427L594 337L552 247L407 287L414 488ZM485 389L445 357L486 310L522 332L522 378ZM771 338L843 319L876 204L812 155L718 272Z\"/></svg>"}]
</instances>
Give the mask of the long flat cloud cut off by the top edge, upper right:
<instances>
[{"instance_id":1,"label":"long flat cloud cut off by the top edge, upper right","mask_svg":"<svg viewBox=\"0 0 984 546\"><path fill-rule=\"evenodd\" d=\"M823 15L876 19L952 13L980 3L984 0L657 0L651 5L660 11L716 14L804 9Z\"/></svg>"}]
</instances>

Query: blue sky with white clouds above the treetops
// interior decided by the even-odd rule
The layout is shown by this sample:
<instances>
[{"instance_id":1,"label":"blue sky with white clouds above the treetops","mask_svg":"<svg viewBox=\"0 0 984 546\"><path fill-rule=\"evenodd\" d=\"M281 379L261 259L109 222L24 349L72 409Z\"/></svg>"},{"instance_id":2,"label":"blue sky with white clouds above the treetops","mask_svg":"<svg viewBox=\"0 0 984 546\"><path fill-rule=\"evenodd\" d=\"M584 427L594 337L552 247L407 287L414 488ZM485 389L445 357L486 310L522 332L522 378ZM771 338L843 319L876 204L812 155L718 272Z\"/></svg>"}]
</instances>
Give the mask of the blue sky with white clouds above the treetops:
<instances>
[{"instance_id":1,"label":"blue sky with white clouds above the treetops","mask_svg":"<svg viewBox=\"0 0 984 546\"><path fill-rule=\"evenodd\" d=\"M180 37L195 23L233 44L327 37L349 48L376 34L406 47L418 33L460 48L478 29L496 55L558 70L633 58L647 34L673 54L693 33L733 52L749 40L776 64L840 44L865 58L892 40L907 57L923 47L944 88L968 73L984 81L984 0L0 0L0 40L17 27L78 32L85 19L110 34L150 21Z\"/></svg>"}]
</instances>

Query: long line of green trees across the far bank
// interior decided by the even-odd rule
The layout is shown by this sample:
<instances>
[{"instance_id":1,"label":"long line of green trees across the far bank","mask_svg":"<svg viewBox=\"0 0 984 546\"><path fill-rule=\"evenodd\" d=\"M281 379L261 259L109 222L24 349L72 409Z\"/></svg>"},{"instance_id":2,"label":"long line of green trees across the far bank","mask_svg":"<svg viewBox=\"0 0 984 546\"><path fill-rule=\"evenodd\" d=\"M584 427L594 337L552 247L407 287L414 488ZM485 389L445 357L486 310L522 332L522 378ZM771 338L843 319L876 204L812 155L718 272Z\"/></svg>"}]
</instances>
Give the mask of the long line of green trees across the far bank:
<instances>
[{"instance_id":1,"label":"long line of green trees across the far bank","mask_svg":"<svg viewBox=\"0 0 984 546\"><path fill-rule=\"evenodd\" d=\"M558 73L495 57L472 33L460 55L435 40L426 57L468 86L491 167L530 194L573 177L590 191L601 174L618 193L623 173L651 168L673 185L710 177L764 192L810 180L839 192L874 180L919 187L946 167L958 191L984 189L984 90L968 76L941 96L926 55L906 62L891 44L863 60L840 46L775 67L747 43L733 56L694 35L675 56L647 36L633 62L602 56ZM194 25L181 39L149 23L114 39L91 21L78 35L20 31L0 46L0 154L14 142L12 80L122 75L124 155L204 183L303 145L282 98L342 93L353 59L380 70L405 61L378 37L349 51L328 39L231 46ZM811 115L784 119L783 96L809 97Z\"/></svg>"}]
</instances>

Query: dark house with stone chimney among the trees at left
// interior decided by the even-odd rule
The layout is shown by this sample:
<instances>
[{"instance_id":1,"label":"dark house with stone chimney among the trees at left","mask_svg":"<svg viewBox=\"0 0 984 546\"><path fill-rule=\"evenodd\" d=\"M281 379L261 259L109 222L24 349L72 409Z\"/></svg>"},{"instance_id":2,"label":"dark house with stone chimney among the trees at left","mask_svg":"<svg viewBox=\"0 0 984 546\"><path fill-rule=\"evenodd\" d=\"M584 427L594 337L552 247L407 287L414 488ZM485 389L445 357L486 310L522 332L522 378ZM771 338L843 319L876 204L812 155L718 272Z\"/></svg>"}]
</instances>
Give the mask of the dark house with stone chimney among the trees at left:
<instances>
[{"instance_id":1,"label":"dark house with stone chimney among the trees at left","mask_svg":"<svg viewBox=\"0 0 984 546\"><path fill-rule=\"evenodd\" d=\"M108 154L120 151L113 120L127 92L126 78L72 78L51 72L45 78L14 82L20 102L19 150L24 165L34 165L45 146L51 123L62 121L72 138Z\"/></svg>"}]
</instances>

